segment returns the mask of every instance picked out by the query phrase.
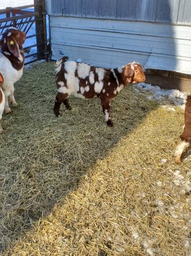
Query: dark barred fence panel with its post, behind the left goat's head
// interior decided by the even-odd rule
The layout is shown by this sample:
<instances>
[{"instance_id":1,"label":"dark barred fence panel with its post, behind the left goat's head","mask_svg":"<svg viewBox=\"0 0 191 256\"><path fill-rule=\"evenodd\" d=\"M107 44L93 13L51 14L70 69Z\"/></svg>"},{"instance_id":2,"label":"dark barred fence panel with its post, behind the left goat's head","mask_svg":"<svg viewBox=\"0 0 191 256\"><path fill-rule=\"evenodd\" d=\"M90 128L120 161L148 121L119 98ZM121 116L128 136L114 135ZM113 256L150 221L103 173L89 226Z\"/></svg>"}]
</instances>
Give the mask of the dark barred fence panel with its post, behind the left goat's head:
<instances>
[{"instance_id":1,"label":"dark barred fence panel with its post, behind the left goat's head","mask_svg":"<svg viewBox=\"0 0 191 256\"><path fill-rule=\"evenodd\" d=\"M7 30L9 27L15 27L23 31L27 35L27 39L36 38L36 43L28 45L23 48L26 52L26 61L25 64L35 62L36 60L48 59L47 52L47 37L46 37L46 19L45 19L45 9L43 3L36 5L27 5L20 7L7 7L4 10L0 10L0 36ZM35 11L29 11L28 8L34 8ZM24 9L24 10L23 10ZM38 12L36 10L41 10ZM31 30L33 24L36 26L36 34L28 35L28 32ZM38 26L41 24L41 26ZM40 29L39 29L40 28ZM35 48L37 51L35 53L30 53L31 48ZM32 60L27 61L32 57Z\"/></svg>"}]
</instances>

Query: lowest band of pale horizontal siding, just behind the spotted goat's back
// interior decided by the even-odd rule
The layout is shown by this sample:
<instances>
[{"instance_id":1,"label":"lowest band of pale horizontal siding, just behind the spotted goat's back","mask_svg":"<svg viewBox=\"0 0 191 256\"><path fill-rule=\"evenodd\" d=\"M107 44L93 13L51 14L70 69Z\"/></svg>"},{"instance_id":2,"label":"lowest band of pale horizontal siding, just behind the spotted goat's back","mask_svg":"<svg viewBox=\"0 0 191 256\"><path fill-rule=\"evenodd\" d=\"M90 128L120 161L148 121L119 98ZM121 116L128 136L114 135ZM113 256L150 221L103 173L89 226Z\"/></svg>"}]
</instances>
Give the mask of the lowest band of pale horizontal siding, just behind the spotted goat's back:
<instances>
[{"instance_id":1,"label":"lowest band of pale horizontal siding, just behind the spotted goat's back","mask_svg":"<svg viewBox=\"0 0 191 256\"><path fill-rule=\"evenodd\" d=\"M120 67L131 61L138 61L145 68L155 68L191 74L190 60L173 59L165 56L144 55L126 51L105 51L104 49L52 45L52 59L58 60L62 56L69 56L70 60L82 59L84 63L99 67ZM103 57L104 56L104 57Z\"/></svg>"}]
</instances>

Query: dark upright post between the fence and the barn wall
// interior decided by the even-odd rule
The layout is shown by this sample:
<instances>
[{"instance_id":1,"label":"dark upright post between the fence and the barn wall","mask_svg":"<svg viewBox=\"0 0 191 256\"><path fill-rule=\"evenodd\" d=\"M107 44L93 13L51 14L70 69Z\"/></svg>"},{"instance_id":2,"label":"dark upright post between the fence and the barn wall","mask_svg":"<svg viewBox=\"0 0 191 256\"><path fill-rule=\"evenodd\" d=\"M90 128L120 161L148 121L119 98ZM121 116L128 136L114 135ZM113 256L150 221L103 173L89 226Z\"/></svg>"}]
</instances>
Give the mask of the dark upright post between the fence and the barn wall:
<instances>
[{"instance_id":1,"label":"dark upright post between the fence and the barn wall","mask_svg":"<svg viewBox=\"0 0 191 256\"><path fill-rule=\"evenodd\" d=\"M39 13L37 19L40 19L36 21L37 58L46 59L47 38L45 0L34 0L34 4L35 11Z\"/></svg>"}]
</instances>

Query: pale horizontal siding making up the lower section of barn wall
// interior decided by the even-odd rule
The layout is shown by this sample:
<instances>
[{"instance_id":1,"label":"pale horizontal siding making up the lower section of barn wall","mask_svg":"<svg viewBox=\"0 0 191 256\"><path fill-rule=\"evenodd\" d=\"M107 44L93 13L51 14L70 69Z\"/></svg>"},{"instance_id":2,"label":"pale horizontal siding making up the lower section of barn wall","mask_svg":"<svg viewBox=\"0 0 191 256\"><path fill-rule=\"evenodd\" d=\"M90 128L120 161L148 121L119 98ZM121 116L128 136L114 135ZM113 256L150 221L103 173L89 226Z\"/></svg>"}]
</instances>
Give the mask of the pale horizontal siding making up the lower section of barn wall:
<instances>
[{"instance_id":1,"label":"pale horizontal siding making up the lower section of barn wall","mask_svg":"<svg viewBox=\"0 0 191 256\"><path fill-rule=\"evenodd\" d=\"M50 16L53 59L63 55L102 67L136 60L191 73L191 27Z\"/></svg>"}]
</instances>

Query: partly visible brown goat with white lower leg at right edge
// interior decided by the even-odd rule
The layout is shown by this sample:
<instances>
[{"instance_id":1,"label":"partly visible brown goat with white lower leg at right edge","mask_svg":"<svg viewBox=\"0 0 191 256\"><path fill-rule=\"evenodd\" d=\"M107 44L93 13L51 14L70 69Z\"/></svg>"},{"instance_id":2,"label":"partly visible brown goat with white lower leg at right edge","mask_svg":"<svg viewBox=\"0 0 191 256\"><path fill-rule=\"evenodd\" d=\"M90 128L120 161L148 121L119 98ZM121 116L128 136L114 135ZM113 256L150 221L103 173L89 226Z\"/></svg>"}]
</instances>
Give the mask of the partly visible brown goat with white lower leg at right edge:
<instances>
[{"instance_id":1,"label":"partly visible brown goat with white lower leg at right edge","mask_svg":"<svg viewBox=\"0 0 191 256\"><path fill-rule=\"evenodd\" d=\"M191 96L187 97L186 108L184 113L185 125L184 131L180 136L181 142L175 150L175 163L181 163L181 156L191 143Z\"/></svg>"}]
</instances>

